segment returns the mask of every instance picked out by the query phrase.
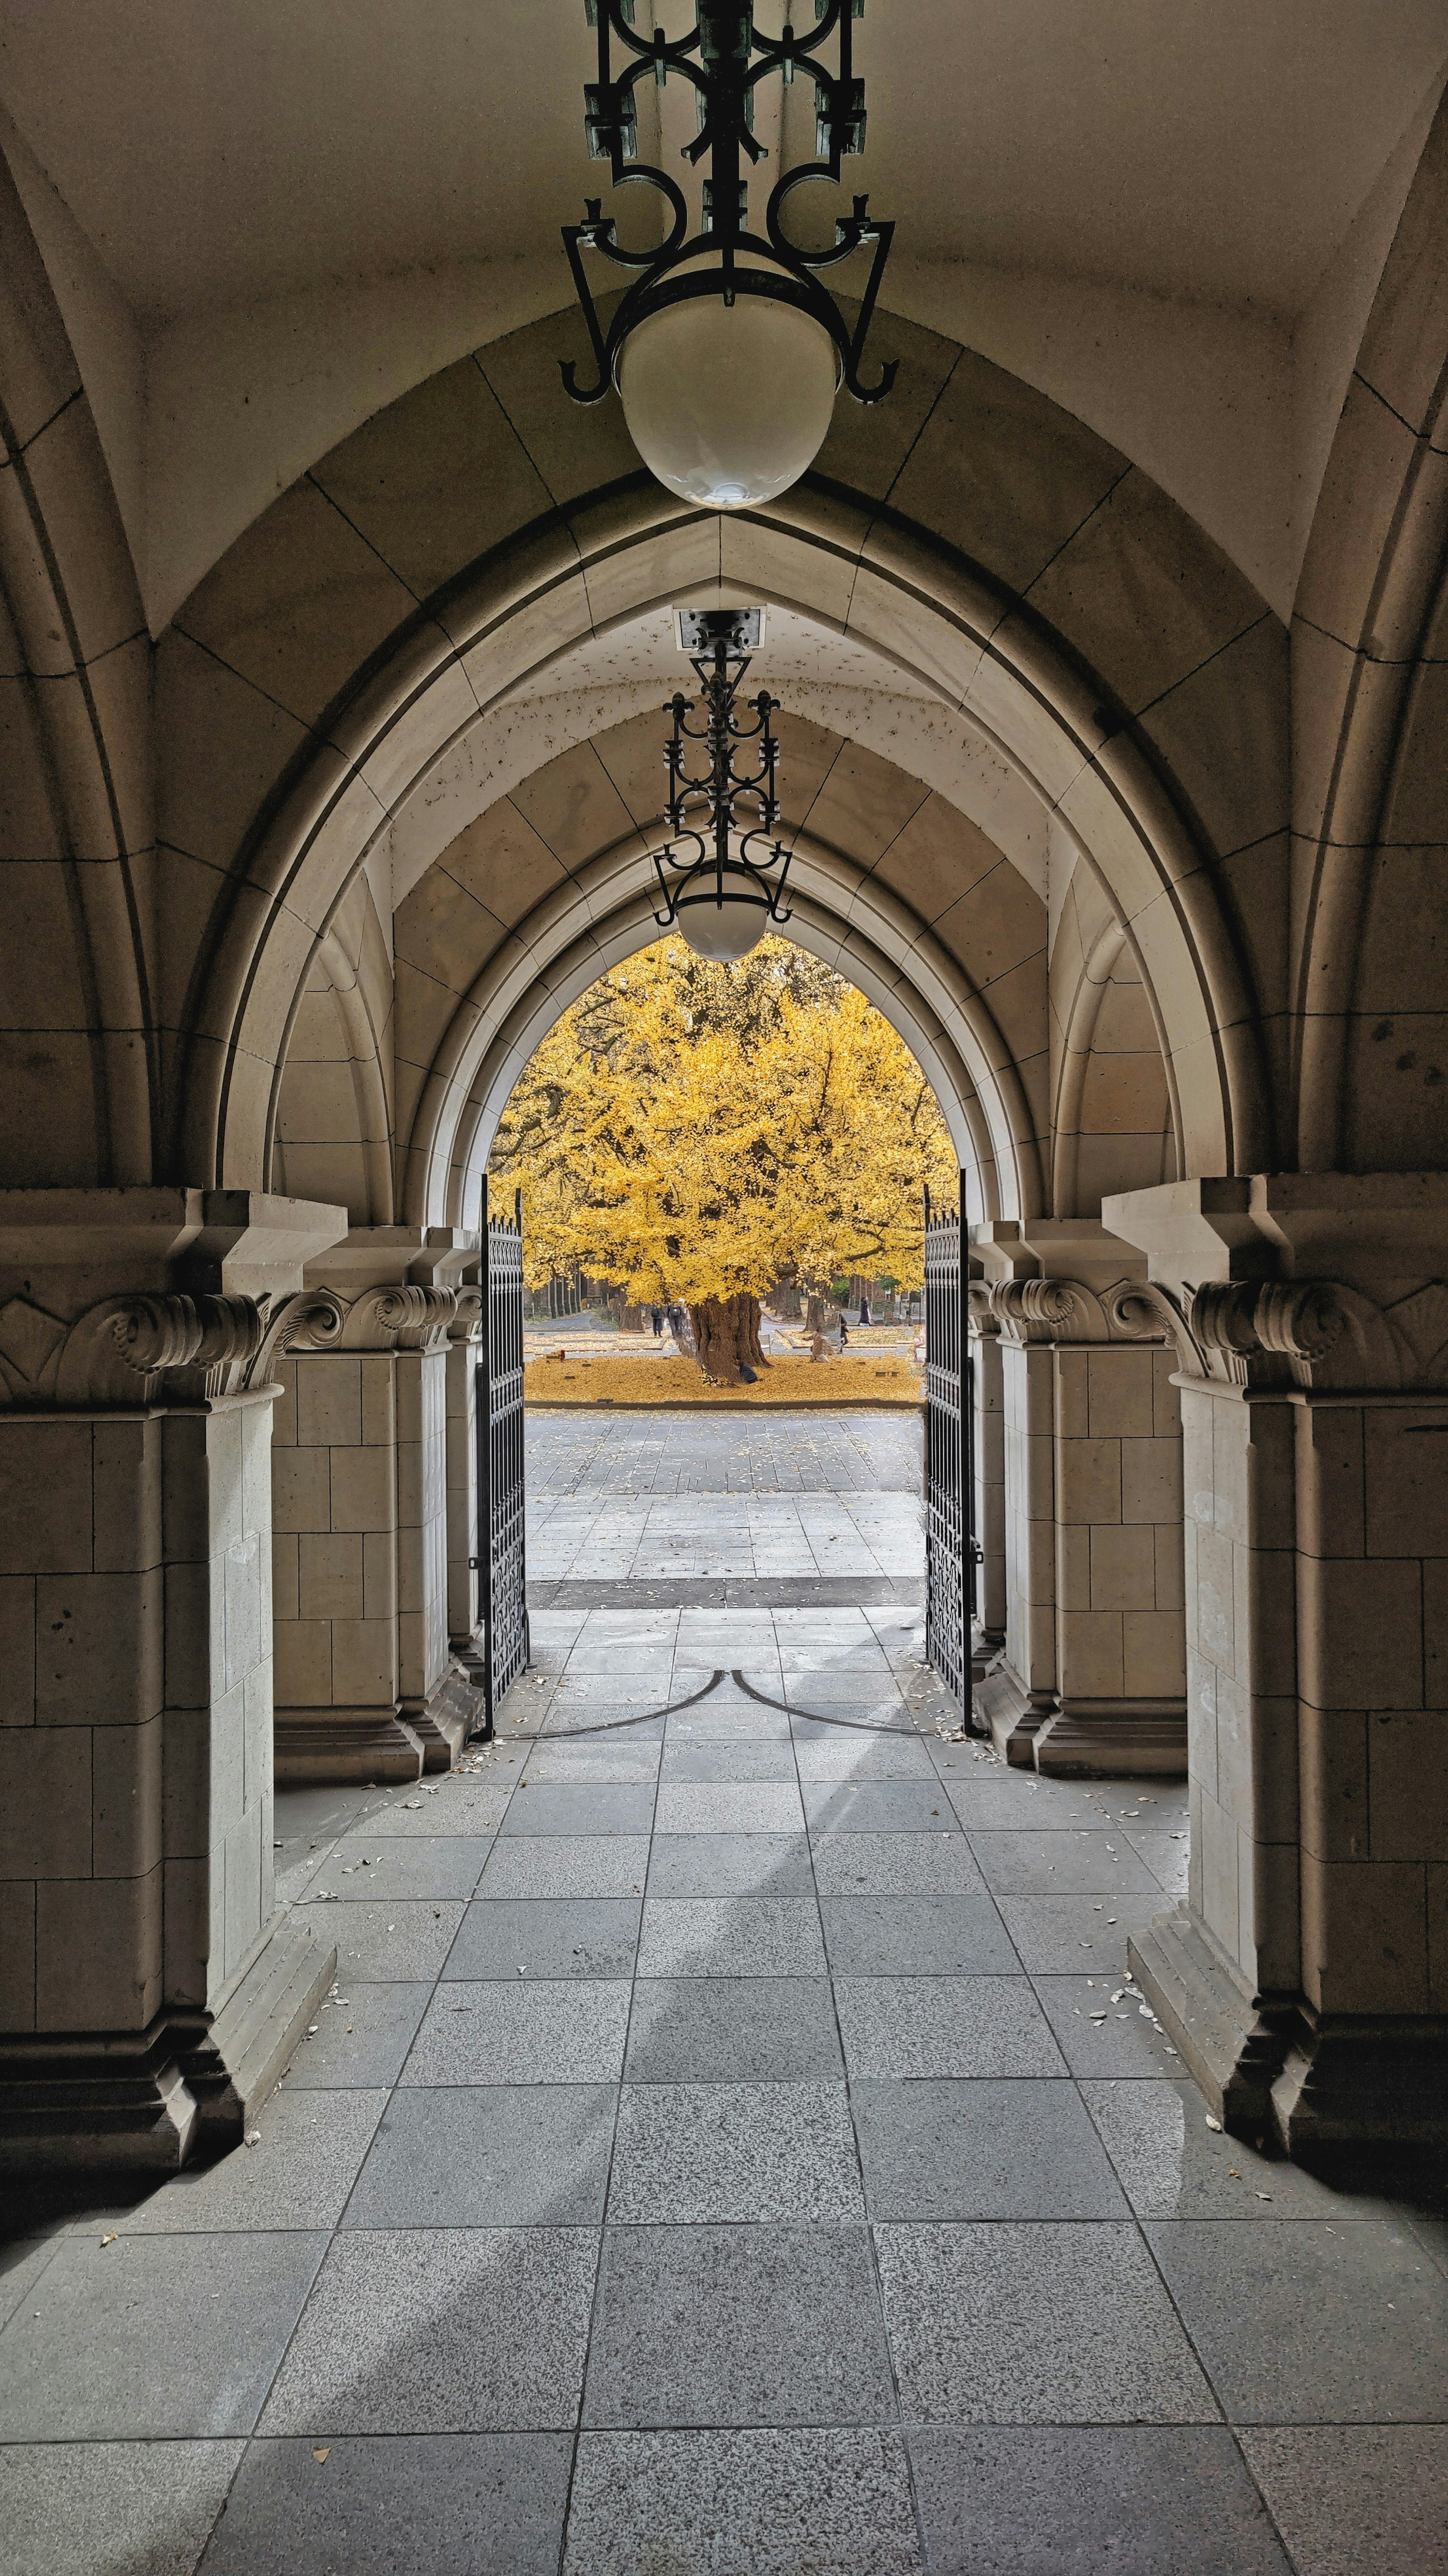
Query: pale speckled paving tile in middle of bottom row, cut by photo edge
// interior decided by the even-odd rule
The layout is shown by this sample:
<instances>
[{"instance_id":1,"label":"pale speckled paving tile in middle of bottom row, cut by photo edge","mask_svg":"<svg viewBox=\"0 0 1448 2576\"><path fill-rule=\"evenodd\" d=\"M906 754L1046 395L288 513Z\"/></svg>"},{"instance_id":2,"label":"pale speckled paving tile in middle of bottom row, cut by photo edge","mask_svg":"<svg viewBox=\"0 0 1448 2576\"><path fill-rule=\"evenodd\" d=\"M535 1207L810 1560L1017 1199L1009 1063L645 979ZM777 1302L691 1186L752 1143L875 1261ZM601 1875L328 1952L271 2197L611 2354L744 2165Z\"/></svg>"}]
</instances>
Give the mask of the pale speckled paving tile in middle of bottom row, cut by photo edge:
<instances>
[{"instance_id":1,"label":"pale speckled paving tile in middle of bottom row, cut by photo edge","mask_svg":"<svg viewBox=\"0 0 1448 2576\"><path fill-rule=\"evenodd\" d=\"M585 2432L564 2576L917 2576L894 2432Z\"/></svg>"}]
</instances>

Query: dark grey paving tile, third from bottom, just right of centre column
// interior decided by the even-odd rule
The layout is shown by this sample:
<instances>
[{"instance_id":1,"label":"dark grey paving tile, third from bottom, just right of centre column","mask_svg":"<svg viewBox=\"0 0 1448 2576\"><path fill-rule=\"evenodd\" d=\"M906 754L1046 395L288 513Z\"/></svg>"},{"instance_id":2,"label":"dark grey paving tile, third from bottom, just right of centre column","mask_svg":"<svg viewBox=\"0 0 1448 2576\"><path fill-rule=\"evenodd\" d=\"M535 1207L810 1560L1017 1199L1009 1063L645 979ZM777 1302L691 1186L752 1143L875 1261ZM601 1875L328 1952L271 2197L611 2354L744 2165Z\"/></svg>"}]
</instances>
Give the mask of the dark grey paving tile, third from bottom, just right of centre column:
<instances>
[{"instance_id":1,"label":"dark grey paving tile, third from bottom, just right of centre column","mask_svg":"<svg viewBox=\"0 0 1448 2576\"><path fill-rule=\"evenodd\" d=\"M850 2087L871 2218L1129 2218L1074 2084Z\"/></svg>"}]
</instances>

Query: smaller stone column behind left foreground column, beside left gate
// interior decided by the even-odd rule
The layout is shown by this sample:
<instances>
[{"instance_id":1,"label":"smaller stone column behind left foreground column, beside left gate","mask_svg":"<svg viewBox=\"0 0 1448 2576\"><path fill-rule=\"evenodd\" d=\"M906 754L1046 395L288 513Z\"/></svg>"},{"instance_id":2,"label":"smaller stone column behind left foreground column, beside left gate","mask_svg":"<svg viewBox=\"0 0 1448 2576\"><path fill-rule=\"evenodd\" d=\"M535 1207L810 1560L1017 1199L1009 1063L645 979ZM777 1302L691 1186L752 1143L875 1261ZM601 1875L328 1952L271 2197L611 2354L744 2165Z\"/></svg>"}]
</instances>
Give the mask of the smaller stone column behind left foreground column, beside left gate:
<instances>
[{"instance_id":1,"label":"smaller stone column behind left foreground column, beside left gate","mask_svg":"<svg viewBox=\"0 0 1448 2576\"><path fill-rule=\"evenodd\" d=\"M353 1229L276 1324L278 1780L415 1780L479 1723L448 1651L448 1273L469 1257L474 1236Z\"/></svg>"}]
</instances>

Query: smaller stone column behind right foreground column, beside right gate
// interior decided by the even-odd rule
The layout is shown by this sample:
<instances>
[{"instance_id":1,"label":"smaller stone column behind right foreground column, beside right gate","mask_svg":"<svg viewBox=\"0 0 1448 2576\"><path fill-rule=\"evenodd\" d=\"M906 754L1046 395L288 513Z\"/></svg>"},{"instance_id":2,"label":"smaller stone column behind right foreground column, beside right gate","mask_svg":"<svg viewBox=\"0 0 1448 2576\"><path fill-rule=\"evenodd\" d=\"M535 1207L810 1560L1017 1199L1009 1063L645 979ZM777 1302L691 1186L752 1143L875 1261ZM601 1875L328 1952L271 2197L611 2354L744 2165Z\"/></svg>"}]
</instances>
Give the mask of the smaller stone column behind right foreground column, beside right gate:
<instances>
[{"instance_id":1,"label":"smaller stone column behind right foreground column, beside right gate","mask_svg":"<svg viewBox=\"0 0 1448 2576\"><path fill-rule=\"evenodd\" d=\"M1085 1218L974 1231L1005 1414L1005 1651L976 1718L1036 1770L1180 1772L1180 1414L1144 1265Z\"/></svg>"}]
</instances>

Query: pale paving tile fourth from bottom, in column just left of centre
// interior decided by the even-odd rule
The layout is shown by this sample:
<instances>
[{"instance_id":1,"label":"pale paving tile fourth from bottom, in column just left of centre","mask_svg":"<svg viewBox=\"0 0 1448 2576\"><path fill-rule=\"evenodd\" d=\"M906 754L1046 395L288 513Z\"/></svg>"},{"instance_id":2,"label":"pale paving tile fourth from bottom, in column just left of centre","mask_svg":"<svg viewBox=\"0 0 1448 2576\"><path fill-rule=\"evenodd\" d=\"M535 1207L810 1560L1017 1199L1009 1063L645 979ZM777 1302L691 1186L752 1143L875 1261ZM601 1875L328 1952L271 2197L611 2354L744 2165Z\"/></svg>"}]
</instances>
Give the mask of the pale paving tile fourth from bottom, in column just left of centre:
<instances>
[{"instance_id":1,"label":"pale paving tile fourth from bottom, in column just left of centre","mask_svg":"<svg viewBox=\"0 0 1448 2576\"><path fill-rule=\"evenodd\" d=\"M598 1976L441 1986L405 2084L616 2084L629 1986Z\"/></svg>"}]
</instances>

